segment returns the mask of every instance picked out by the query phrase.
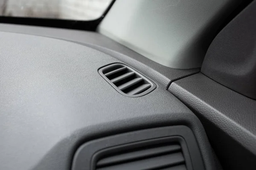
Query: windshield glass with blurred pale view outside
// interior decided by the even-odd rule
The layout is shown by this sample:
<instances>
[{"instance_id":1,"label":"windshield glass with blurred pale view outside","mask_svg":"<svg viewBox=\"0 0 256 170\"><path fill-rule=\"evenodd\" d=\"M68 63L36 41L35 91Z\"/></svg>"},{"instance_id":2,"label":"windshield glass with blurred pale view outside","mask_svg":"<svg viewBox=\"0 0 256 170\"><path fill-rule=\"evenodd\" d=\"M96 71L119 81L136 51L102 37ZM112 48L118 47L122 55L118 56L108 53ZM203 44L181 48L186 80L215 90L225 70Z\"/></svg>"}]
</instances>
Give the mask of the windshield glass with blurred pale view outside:
<instances>
[{"instance_id":1,"label":"windshield glass with blurred pale view outside","mask_svg":"<svg viewBox=\"0 0 256 170\"><path fill-rule=\"evenodd\" d=\"M95 20L112 0L0 0L0 14L6 17Z\"/></svg>"}]
</instances>

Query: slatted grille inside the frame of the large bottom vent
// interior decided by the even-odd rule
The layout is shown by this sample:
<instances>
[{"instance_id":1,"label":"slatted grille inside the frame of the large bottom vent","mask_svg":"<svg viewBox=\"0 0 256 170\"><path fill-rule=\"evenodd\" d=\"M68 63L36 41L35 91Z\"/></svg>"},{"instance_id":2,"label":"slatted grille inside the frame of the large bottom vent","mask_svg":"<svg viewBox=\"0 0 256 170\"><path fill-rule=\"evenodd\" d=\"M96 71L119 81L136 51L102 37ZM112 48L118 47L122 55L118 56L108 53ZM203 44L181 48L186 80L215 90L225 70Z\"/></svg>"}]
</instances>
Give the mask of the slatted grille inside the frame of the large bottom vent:
<instances>
[{"instance_id":1,"label":"slatted grille inside the frame of the large bottom vent","mask_svg":"<svg viewBox=\"0 0 256 170\"><path fill-rule=\"evenodd\" d=\"M186 170L180 144L127 150L99 159L96 170Z\"/></svg>"}]
</instances>

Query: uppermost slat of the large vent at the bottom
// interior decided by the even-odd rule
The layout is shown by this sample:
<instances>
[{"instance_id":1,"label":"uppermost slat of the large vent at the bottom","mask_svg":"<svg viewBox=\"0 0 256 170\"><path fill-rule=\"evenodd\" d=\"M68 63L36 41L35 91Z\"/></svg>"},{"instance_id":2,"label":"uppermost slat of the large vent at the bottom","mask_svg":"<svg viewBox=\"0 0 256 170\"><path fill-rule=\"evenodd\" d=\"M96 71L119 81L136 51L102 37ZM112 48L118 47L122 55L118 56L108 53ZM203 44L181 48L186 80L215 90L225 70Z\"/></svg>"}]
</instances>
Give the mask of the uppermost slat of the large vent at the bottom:
<instances>
[{"instance_id":1,"label":"uppermost slat of the large vent at the bottom","mask_svg":"<svg viewBox=\"0 0 256 170\"><path fill-rule=\"evenodd\" d=\"M180 150L181 147L178 144L162 146L162 147L154 147L145 150L137 150L134 152L128 152L123 154L118 154L114 156L109 156L105 159L101 159L97 162L97 167L106 166L109 164L115 164L120 162L127 162L131 160L137 160L142 158L148 158L150 156L157 156L164 153L171 153Z\"/></svg>"}]
</instances>

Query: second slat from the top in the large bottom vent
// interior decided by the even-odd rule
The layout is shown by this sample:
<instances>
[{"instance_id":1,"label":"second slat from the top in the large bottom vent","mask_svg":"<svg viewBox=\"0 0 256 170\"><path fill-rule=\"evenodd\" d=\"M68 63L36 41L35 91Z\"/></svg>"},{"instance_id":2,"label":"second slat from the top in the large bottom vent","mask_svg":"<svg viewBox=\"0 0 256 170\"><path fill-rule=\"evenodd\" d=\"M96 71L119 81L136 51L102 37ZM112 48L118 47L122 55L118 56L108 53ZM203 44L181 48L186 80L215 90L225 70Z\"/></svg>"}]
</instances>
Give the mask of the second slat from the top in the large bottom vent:
<instances>
[{"instance_id":1,"label":"second slat from the top in the large bottom vent","mask_svg":"<svg viewBox=\"0 0 256 170\"><path fill-rule=\"evenodd\" d=\"M163 167L171 167L184 162L185 160L182 153L173 153L169 155L156 156L153 158L97 168L96 170L152 170Z\"/></svg>"}]
</instances>

